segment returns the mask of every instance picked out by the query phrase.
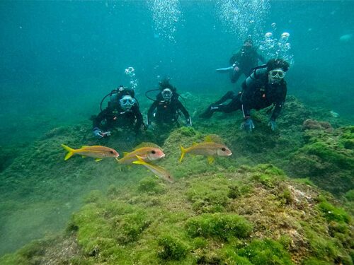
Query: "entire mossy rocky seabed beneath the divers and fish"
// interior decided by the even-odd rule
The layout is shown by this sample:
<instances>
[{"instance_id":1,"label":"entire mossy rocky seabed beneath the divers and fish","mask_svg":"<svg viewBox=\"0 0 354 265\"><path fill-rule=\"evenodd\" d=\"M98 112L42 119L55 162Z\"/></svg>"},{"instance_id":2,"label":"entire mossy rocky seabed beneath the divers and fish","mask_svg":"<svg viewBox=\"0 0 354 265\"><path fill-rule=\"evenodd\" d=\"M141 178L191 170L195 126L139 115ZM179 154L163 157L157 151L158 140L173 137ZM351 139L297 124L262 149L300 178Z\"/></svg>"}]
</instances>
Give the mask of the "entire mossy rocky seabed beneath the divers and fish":
<instances>
[{"instance_id":1,"label":"entire mossy rocky seabed beneath the divers and fish","mask_svg":"<svg viewBox=\"0 0 354 265\"><path fill-rule=\"evenodd\" d=\"M292 97L275 132L265 111L254 113L252 134L238 129L239 113L215 116L193 128L100 142L121 153L156 137L166 153L156 164L171 172L173 184L114 160L64 161L61 143L97 144L88 124L47 132L0 173L1 231L20 242L28 232L16 237L8 228L29 220L25 228L33 234L22 241L28 242L72 218L64 235L31 243L0 264L351 264L352 127L308 122L304 128L316 112ZM180 145L215 133L232 157L210 165L187 154L178 162ZM316 185L336 196L346 192L349 211Z\"/></svg>"}]
</instances>

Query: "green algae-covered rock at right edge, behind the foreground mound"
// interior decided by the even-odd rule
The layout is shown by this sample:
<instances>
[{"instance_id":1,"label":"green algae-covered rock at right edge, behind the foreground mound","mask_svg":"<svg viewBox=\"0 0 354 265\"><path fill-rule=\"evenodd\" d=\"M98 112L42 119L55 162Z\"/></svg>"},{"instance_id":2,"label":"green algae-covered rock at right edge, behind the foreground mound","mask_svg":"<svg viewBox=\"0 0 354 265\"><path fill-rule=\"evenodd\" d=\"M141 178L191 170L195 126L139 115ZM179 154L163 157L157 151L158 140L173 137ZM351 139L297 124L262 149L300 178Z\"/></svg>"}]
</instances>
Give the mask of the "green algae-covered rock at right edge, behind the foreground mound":
<instances>
[{"instance_id":1,"label":"green algae-covered rock at right edge, behind the foreground mound","mask_svg":"<svg viewBox=\"0 0 354 265\"><path fill-rule=\"evenodd\" d=\"M328 131L324 127L308 127L302 148L292 154L293 174L310 177L315 184L343 194L354 188L354 126Z\"/></svg>"}]
</instances>

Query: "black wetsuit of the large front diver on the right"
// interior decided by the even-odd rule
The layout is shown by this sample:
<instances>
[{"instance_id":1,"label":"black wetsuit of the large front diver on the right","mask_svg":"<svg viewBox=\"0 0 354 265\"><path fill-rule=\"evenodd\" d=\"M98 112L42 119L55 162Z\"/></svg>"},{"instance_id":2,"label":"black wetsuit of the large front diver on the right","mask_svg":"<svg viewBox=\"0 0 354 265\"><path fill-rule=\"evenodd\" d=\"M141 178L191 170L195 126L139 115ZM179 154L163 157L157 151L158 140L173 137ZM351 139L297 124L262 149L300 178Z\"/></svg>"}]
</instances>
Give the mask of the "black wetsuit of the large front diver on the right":
<instances>
[{"instance_id":1,"label":"black wetsuit of the large front diver on the right","mask_svg":"<svg viewBox=\"0 0 354 265\"><path fill-rule=\"evenodd\" d=\"M275 120L280 114L282 105L287 95L287 84L284 80L280 83L268 82L268 71L258 69L242 83L242 92L234 95L227 105L217 105L212 112L234 112L242 110L244 117L249 117L251 109L261 110L274 104L271 119Z\"/></svg>"}]
</instances>

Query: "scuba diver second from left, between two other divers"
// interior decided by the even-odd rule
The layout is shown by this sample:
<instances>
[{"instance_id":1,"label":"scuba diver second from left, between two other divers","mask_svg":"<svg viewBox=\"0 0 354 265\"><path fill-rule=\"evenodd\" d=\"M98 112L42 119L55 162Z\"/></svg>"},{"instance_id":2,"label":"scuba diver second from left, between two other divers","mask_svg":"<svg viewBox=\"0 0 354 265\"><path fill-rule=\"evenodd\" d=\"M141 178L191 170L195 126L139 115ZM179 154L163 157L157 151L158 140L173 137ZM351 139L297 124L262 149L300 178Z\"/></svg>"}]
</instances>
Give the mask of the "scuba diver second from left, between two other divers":
<instances>
[{"instance_id":1,"label":"scuba diver second from left, between two other divers","mask_svg":"<svg viewBox=\"0 0 354 265\"><path fill-rule=\"evenodd\" d=\"M178 117L181 115L181 112L185 117L185 126L192 126L190 115L181 101L178 100L179 95L176 92L176 88L169 83L169 78L165 78L159 82L158 90L160 92L156 95L156 100L149 98L147 95L147 93L153 90L149 90L145 94L147 98L154 100L154 103L152 103L147 112L147 128L152 129L152 122L156 122L159 126L166 124L176 124L179 126Z\"/></svg>"}]
</instances>

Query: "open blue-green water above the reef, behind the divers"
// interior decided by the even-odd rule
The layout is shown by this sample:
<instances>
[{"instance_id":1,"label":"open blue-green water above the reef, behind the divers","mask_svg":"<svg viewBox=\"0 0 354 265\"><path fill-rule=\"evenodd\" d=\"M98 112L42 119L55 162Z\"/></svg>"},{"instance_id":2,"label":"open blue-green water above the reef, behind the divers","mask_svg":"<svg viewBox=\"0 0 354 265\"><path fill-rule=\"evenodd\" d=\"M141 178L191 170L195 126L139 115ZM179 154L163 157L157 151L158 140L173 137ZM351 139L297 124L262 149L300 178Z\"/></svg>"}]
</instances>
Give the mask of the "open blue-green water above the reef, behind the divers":
<instances>
[{"instance_id":1,"label":"open blue-green water above the reef, behind the divers","mask_svg":"<svg viewBox=\"0 0 354 265\"><path fill-rule=\"evenodd\" d=\"M193 93L234 88L214 70L228 66L246 36L237 23L223 23L230 18L221 16L218 6L231 2L237 10L242 1L170 2L177 3L176 10L161 8L156 11L161 16L154 16L149 1L1 1L6 128L0 143L27 141L52 124L88 119L103 95L120 83L129 85L128 66L135 68L139 98L156 87L157 76L169 76L179 90ZM274 35L290 33L290 93L348 119L353 119L353 7L353 1L270 1L257 25L262 36L256 36L274 30L272 23ZM171 12L178 20L159 28Z\"/></svg>"}]
</instances>

